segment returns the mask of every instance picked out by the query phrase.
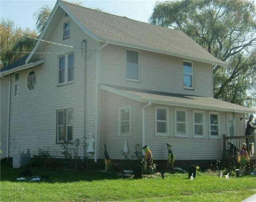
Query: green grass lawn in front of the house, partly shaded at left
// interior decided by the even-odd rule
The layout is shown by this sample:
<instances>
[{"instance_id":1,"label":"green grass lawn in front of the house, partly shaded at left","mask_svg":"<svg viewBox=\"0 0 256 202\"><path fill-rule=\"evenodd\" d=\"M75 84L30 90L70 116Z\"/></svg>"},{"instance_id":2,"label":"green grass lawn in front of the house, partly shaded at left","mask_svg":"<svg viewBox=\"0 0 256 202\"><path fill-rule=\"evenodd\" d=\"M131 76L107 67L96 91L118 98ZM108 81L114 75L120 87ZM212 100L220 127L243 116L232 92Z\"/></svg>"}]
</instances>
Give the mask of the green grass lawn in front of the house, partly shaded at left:
<instances>
[{"instance_id":1,"label":"green grass lawn in front of the house, partly shaded at left","mask_svg":"<svg viewBox=\"0 0 256 202\"><path fill-rule=\"evenodd\" d=\"M23 169L1 165L0 201L221 201L237 202L256 193L255 176L218 177L199 173L165 173L143 179L118 177L117 173L31 168L33 175L48 175L40 182L17 181Z\"/></svg>"}]
</instances>

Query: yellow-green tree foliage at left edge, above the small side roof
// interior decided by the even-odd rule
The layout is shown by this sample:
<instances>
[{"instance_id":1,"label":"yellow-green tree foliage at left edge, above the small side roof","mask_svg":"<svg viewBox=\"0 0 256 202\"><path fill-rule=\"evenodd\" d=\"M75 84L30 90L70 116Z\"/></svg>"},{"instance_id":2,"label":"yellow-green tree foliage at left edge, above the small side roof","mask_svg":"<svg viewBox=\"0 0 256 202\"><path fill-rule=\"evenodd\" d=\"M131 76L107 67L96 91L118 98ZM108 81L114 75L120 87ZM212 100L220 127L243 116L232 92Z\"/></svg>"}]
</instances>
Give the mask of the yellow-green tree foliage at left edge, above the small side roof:
<instances>
[{"instance_id":1,"label":"yellow-green tree foliage at left edge, above the small side roof","mask_svg":"<svg viewBox=\"0 0 256 202\"><path fill-rule=\"evenodd\" d=\"M12 20L3 18L0 23L0 34L1 69L28 54L36 43L35 39L29 37L37 37L35 30L22 30L15 27Z\"/></svg>"}]
</instances>

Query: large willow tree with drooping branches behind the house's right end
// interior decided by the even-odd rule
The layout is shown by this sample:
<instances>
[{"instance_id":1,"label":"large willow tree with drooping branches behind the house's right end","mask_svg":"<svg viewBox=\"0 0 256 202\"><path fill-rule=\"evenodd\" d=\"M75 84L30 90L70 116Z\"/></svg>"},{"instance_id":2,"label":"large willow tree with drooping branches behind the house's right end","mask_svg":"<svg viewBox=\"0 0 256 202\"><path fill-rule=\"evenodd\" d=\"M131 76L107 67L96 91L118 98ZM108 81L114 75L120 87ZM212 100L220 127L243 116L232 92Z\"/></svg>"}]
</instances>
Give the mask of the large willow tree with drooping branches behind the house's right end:
<instances>
[{"instance_id":1,"label":"large willow tree with drooping branches behind the house's right end","mask_svg":"<svg viewBox=\"0 0 256 202\"><path fill-rule=\"evenodd\" d=\"M253 1L157 2L150 23L180 29L228 67L213 65L214 98L255 107L256 10Z\"/></svg>"}]
</instances>

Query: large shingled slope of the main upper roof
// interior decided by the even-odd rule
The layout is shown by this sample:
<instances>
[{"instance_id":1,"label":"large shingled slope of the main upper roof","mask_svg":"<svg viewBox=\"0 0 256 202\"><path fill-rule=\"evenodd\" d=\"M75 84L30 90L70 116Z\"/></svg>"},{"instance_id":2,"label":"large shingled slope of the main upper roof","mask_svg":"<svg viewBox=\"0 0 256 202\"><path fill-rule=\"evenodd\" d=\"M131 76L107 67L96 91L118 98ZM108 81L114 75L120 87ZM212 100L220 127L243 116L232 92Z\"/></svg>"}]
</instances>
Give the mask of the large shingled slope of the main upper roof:
<instances>
[{"instance_id":1,"label":"large shingled slope of the main upper roof","mask_svg":"<svg viewBox=\"0 0 256 202\"><path fill-rule=\"evenodd\" d=\"M59 2L98 39L108 39L110 43L112 41L136 45L152 51L162 51L166 54L208 61L212 64L225 64L180 30L139 22L68 2Z\"/></svg>"}]
</instances>

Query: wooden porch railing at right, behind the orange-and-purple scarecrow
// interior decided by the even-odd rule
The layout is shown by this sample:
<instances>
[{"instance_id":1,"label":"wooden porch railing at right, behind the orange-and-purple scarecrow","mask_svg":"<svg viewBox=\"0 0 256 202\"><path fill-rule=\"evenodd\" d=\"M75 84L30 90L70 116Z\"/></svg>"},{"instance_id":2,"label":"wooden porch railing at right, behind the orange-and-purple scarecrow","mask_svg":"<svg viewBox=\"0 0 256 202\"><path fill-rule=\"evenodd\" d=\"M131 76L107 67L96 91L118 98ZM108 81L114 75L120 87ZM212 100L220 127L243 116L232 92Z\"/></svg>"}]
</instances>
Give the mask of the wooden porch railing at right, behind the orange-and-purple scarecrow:
<instances>
[{"instance_id":1,"label":"wooden porch railing at right, behind the orange-and-purple scarecrow","mask_svg":"<svg viewBox=\"0 0 256 202\"><path fill-rule=\"evenodd\" d=\"M247 144L250 160L255 160L256 140L253 135L226 136L225 134L223 134L223 159L236 159L242 143Z\"/></svg>"}]
</instances>

